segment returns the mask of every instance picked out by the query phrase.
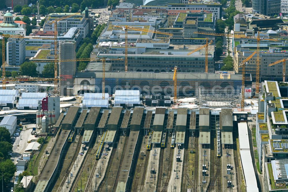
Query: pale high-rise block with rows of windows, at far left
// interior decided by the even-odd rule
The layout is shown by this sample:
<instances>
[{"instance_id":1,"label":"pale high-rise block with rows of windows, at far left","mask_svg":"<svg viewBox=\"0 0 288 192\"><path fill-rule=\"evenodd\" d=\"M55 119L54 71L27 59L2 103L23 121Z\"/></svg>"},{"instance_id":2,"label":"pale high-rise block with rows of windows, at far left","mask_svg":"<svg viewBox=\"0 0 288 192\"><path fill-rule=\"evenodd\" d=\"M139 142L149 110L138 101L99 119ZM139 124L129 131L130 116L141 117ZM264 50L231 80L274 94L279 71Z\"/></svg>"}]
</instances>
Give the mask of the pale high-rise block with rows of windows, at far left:
<instances>
[{"instance_id":1,"label":"pale high-rise block with rows of windows, at far left","mask_svg":"<svg viewBox=\"0 0 288 192\"><path fill-rule=\"evenodd\" d=\"M25 39L9 38L7 41L8 65L21 65L25 61Z\"/></svg>"}]
</instances>

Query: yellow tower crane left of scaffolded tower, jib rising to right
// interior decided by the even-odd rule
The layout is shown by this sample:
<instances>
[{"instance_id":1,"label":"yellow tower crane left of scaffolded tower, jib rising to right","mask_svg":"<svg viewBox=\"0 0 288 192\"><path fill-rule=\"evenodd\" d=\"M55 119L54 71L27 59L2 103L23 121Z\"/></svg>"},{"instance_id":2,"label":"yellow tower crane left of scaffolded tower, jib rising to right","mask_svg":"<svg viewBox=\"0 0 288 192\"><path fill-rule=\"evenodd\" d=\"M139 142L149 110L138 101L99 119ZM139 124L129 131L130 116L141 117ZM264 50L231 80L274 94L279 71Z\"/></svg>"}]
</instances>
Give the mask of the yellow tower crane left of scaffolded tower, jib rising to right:
<instances>
[{"instance_id":1,"label":"yellow tower crane left of scaffolded tower, jib rising to right","mask_svg":"<svg viewBox=\"0 0 288 192\"><path fill-rule=\"evenodd\" d=\"M54 23L54 76L55 78L58 76L58 63L57 63L57 59L58 59L58 50L57 50L57 35L58 35L58 29L57 29L57 22L58 21L61 21L61 20L64 20L64 19L67 19L69 17L72 17L72 16L75 16L75 15L79 15L81 13L75 13L75 14L71 14L71 15L67 15L67 16L64 16L64 17L60 17L58 19L55 19L55 20L52 20L50 22L47 22L48 24L52 25ZM58 92L58 81L54 81L54 91Z\"/></svg>"}]
</instances>

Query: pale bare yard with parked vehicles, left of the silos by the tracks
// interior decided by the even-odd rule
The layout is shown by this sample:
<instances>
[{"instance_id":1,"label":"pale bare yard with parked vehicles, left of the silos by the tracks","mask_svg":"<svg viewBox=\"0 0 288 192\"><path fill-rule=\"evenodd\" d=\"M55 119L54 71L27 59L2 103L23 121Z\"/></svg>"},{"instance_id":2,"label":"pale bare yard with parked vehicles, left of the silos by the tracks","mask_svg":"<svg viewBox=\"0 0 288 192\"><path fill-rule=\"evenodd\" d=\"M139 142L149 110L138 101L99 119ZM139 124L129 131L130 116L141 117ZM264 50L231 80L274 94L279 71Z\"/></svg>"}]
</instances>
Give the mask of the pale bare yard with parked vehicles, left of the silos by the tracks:
<instances>
[{"instance_id":1,"label":"pale bare yard with parked vehicles, left of the silos by the tracks","mask_svg":"<svg viewBox=\"0 0 288 192\"><path fill-rule=\"evenodd\" d=\"M36 124L24 124L23 130L20 132L19 136L16 137L16 140L13 144L13 152L11 157L12 161L14 161L15 164L17 163L16 159L18 159L18 157L24 153L24 150L28 145L27 141L35 139L35 136L31 135L33 127L36 127Z\"/></svg>"}]
</instances>

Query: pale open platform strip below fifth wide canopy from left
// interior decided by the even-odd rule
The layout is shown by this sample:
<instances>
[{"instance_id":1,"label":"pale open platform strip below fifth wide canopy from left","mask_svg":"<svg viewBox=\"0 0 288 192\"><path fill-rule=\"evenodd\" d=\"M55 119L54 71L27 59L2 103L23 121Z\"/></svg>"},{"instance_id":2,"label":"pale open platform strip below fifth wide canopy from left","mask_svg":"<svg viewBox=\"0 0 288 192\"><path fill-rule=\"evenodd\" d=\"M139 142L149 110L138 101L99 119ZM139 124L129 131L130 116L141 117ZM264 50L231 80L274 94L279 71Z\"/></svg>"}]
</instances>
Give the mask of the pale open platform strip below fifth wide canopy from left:
<instances>
[{"instance_id":1,"label":"pale open platform strip below fifth wide canopy from left","mask_svg":"<svg viewBox=\"0 0 288 192\"><path fill-rule=\"evenodd\" d=\"M160 147L152 148L145 178L145 187L143 191L156 191L158 179L158 167L160 159Z\"/></svg>"}]
</instances>

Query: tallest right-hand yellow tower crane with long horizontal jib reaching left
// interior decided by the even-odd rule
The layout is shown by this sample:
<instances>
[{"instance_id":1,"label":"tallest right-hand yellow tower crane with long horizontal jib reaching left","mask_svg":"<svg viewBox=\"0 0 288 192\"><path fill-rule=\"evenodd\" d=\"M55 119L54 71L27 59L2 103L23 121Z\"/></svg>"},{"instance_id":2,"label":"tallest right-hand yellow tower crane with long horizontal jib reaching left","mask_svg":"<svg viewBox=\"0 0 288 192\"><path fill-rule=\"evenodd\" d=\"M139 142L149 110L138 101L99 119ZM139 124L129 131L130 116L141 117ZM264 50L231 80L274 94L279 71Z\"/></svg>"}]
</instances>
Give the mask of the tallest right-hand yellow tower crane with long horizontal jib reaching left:
<instances>
[{"instance_id":1,"label":"tallest right-hand yellow tower crane with long horizontal jib reaching left","mask_svg":"<svg viewBox=\"0 0 288 192\"><path fill-rule=\"evenodd\" d=\"M257 37L247 37L243 35L232 35L232 34L225 34L225 33L209 33L209 32L194 32L197 34L204 34L204 35L215 35L215 36L226 36L226 37L234 37L234 38L246 38L246 39L256 39L257 40L257 59L256 59L256 93L259 93L259 75L260 75L260 41L261 40L269 40L269 41L278 41L277 39L264 39L260 37L260 32L257 32Z\"/></svg>"}]
</instances>

